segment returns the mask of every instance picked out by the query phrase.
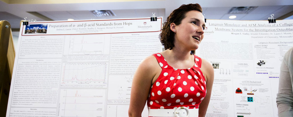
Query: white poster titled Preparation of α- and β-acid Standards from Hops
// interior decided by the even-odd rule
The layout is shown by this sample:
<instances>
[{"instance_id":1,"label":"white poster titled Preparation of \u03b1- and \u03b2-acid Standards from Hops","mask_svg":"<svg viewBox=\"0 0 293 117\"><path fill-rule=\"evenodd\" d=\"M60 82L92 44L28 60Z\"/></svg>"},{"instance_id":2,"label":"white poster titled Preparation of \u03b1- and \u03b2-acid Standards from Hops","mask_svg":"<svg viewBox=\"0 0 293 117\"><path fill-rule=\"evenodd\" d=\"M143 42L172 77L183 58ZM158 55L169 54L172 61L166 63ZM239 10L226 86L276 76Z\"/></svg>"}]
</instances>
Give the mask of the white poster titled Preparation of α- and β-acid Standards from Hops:
<instances>
[{"instance_id":1,"label":"white poster titled Preparation of \u03b1- and \u03b2-acid Standards from Hops","mask_svg":"<svg viewBox=\"0 0 293 117\"><path fill-rule=\"evenodd\" d=\"M161 27L162 17L21 26L6 117L128 116L133 74L162 51Z\"/></svg>"}]
</instances>

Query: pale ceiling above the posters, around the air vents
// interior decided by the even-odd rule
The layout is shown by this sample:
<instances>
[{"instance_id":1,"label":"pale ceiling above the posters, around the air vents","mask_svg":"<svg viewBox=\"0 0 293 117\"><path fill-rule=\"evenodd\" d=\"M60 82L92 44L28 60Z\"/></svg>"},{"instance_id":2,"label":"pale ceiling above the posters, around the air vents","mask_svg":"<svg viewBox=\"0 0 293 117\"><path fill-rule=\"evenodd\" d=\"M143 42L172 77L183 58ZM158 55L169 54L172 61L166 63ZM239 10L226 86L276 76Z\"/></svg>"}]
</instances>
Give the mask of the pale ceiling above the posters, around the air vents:
<instances>
[{"instance_id":1,"label":"pale ceiling above the posters, around the air vents","mask_svg":"<svg viewBox=\"0 0 293 117\"><path fill-rule=\"evenodd\" d=\"M166 19L181 4L199 3L207 19L268 20L271 14L278 19L293 19L293 0L0 0L0 20L19 30L21 20L75 20L104 18L157 17ZM248 14L228 14L232 7L256 6ZM96 17L92 10L112 10L116 16Z\"/></svg>"}]
</instances>

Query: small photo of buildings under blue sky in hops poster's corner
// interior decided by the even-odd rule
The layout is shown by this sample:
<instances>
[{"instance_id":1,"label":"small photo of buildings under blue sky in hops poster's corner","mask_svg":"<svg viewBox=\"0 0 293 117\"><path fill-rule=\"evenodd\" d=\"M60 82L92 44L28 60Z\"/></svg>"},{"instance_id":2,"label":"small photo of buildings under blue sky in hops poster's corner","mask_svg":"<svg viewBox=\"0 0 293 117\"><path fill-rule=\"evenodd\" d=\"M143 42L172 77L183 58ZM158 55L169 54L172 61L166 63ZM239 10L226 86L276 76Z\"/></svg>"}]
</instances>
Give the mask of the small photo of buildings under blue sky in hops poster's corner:
<instances>
[{"instance_id":1,"label":"small photo of buildings under blue sky in hops poster's corner","mask_svg":"<svg viewBox=\"0 0 293 117\"><path fill-rule=\"evenodd\" d=\"M47 33L48 24L26 25L24 34Z\"/></svg>"}]
</instances>

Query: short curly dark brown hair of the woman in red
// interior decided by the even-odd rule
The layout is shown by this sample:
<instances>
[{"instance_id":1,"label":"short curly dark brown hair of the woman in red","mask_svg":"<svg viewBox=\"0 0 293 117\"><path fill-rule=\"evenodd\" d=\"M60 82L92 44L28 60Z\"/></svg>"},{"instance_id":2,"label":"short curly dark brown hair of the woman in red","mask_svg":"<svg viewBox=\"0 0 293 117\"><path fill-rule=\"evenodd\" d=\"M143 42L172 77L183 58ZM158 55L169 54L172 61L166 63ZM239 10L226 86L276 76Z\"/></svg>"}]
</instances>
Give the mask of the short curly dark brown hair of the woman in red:
<instances>
[{"instance_id":1,"label":"short curly dark brown hair of the woman in red","mask_svg":"<svg viewBox=\"0 0 293 117\"><path fill-rule=\"evenodd\" d=\"M159 35L160 41L165 49L172 49L174 47L174 32L170 29L171 23L180 25L181 21L186 17L185 14L188 11L199 11L202 13L202 8L199 4L183 4L179 8L172 11L172 13L167 17L165 23L163 23L163 29ZM192 50L190 54L195 54L195 50Z\"/></svg>"}]
</instances>

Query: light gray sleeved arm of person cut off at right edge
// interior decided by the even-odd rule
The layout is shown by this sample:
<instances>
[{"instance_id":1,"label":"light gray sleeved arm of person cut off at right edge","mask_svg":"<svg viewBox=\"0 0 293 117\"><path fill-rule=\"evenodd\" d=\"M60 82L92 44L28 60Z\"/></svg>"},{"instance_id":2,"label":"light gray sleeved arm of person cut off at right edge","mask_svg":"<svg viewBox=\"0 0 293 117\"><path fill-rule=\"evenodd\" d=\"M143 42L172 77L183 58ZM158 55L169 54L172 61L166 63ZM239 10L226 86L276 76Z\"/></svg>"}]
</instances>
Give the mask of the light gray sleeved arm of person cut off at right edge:
<instances>
[{"instance_id":1,"label":"light gray sleeved arm of person cut off at right edge","mask_svg":"<svg viewBox=\"0 0 293 117\"><path fill-rule=\"evenodd\" d=\"M293 47L281 63L277 107L279 117L293 117Z\"/></svg>"}]
</instances>

